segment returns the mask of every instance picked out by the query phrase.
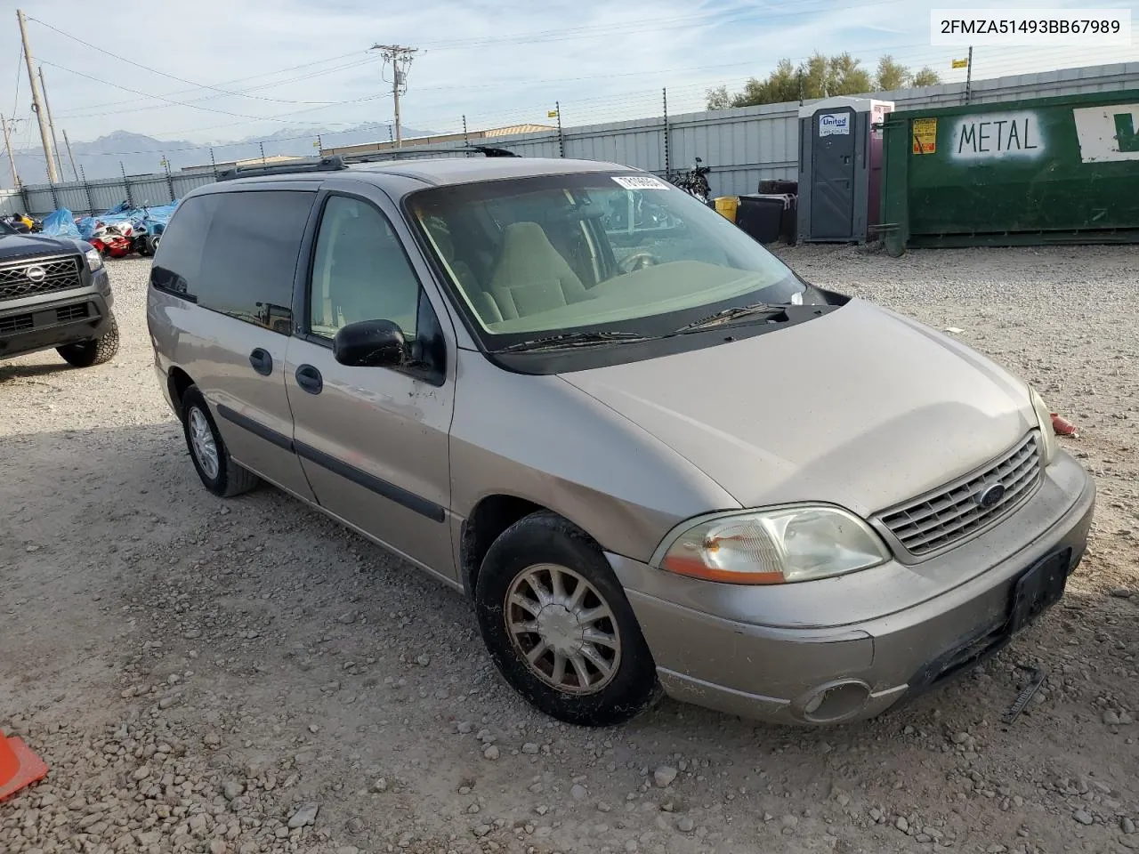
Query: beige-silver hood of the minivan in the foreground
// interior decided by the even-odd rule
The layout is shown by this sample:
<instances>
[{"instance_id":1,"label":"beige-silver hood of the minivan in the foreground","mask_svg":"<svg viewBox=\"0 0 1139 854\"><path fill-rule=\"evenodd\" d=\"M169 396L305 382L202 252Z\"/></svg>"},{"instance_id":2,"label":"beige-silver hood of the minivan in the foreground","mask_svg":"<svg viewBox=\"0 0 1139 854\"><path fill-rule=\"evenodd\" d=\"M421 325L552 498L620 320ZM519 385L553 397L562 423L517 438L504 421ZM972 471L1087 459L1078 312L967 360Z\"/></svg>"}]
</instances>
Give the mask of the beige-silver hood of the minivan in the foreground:
<instances>
[{"instance_id":1,"label":"beige-silver hood of the minivan in the foreground","mask_svg":"<svg viewBox=\"0 0 1139 854\"><path fill-rule=\"evenodd\" d=\"M858 299L805 323L564 373L745 507L871 516L968 474L1035 426L1025 385L965 345Z\"/></svg>"}]
</instances>

